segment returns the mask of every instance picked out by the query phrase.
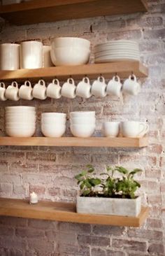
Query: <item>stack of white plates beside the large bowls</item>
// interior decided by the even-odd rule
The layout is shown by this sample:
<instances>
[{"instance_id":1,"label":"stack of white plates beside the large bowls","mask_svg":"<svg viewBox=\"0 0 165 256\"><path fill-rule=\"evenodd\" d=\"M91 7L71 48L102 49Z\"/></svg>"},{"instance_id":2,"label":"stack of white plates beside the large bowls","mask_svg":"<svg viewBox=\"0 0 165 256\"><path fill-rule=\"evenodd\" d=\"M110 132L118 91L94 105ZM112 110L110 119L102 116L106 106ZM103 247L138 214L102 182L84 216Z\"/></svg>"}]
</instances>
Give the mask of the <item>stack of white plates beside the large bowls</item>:
<instances>
[{"instance_id":1,"label":"stack of white plates beside the large bowls","mask_svg":"<svg viewBox=\"0 0 165 256\"><path fill-rule=\"evenodd\" d=\"M109 41L94 46L94 62L139 61L138 43L128 40Z\"/></svg>"}]
</instances>

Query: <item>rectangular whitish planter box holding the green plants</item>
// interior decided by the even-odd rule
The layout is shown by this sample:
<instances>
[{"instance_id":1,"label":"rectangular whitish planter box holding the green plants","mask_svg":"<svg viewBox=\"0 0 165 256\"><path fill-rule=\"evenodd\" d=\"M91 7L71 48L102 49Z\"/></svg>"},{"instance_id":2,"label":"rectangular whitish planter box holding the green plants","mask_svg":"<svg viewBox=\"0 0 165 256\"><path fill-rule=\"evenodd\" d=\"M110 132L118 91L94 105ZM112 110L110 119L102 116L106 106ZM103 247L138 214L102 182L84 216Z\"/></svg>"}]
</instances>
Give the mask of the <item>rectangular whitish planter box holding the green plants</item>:
<instances>
[{"instance_id":1,"label":"rectangular whitish planter box holding the green plants","mask_svg":"<svg viewBox=\"0 0 165 256\"><path fill-rule=\"evenodd\" d=\"M136 199L114 199L77 196L76 208L77 213L136 217L141 212L141 197Z\"/></svg>"}]
</instances>

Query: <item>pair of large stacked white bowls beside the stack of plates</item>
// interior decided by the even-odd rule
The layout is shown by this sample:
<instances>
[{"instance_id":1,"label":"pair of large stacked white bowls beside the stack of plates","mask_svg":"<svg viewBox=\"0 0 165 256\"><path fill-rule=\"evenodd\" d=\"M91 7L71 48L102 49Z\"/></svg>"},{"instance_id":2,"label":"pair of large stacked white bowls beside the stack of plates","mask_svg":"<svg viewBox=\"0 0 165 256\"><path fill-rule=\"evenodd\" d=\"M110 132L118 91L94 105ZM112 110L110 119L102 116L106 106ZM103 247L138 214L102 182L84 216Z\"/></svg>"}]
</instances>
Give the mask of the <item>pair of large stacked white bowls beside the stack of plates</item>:
<instances>
[{"instance_id":1,"label":"pair of large stacked white bowls beside the stack of plates","mask_svg":"<svg viewBox=\"0 0 165 256\"><path fill-rule=\"evenodd\" d=\"M55 38L51 42L50 55L55 66L86 64L89 61L90 42L84 38Z\"/></svg>"}]
</instances>

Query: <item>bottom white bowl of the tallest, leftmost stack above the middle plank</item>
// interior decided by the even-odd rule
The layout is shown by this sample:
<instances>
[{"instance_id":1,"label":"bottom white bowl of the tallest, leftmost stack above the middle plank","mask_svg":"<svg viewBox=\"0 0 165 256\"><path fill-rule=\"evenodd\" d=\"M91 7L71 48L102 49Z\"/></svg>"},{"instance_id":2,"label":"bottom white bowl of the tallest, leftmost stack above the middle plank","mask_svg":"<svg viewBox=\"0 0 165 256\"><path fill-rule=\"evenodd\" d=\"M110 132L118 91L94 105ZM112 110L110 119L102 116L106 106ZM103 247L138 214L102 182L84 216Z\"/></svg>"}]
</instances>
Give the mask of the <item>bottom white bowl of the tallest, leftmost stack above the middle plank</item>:
<instances>
[{"instance_id":1,"label":"bottom white bowl of the tallest, leftmost stack above the middle plank","mask_svg":"<svg viewBox=\"0 0 165 256\"><path fill-rule=\"evenodd\" d=\"M26 127L26 129L22 129L22 127L6 127L6 134L12 137L31 137L35 131L36 127Z\"/></svg>"}]
</instances>

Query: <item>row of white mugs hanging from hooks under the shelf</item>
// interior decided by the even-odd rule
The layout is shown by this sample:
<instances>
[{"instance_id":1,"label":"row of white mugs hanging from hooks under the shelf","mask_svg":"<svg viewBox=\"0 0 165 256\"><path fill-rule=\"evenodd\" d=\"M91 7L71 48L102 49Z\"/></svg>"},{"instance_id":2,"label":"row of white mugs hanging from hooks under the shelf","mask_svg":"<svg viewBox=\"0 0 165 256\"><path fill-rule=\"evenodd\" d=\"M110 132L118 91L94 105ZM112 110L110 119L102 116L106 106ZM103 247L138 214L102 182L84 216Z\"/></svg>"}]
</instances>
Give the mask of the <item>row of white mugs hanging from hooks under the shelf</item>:
<instances>
[{"instance_id":1,"label":"row of white mugs hanging from hooks under the shelf","mask_svg":"<svg viewBox=\"0 0 165 256\"><path fill-rule=\"evenodd\" d=\"M18 101L19 99L32 100L46 99L50 97L52 99L59 99L62 96L74 99L76 96L89 99L92 95L95 97L106 97L107 94L120 97L122 92L131 95L137 95L141 90L141 85L137 82L136 76L131 75L126 79L122 85L119 76L114 76L108 84L106 84L103 76L99 76L97 80L94 80L92 85L89 78L85 76L76 86L73 78L69 78L66 83L59 85L59 80L56 78L52 80L52 83L46 87L44 80L39 80L34 88L31 87L29 80L25 81L24 85L21 85L20 89L17 82L13 82L7 88L3 82L0 83L0 100L6 101L10 99Z\"/></svg>"}]
</instances>

